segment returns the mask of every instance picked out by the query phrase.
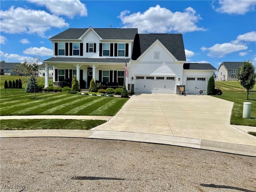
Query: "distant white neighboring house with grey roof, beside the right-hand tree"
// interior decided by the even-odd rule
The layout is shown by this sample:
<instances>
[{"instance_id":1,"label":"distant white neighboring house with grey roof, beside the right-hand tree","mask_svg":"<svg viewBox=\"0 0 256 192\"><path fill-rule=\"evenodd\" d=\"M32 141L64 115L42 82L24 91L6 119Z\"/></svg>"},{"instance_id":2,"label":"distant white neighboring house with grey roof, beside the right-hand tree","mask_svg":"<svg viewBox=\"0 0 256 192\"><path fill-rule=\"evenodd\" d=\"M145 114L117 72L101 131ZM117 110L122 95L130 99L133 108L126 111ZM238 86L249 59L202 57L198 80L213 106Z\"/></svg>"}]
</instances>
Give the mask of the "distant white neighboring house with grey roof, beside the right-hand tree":
<instances>
[{"instance_id":1,"label":"distant white neighboring house with grey roof, beside the right-hand tree","mask_svg":"<svg viewBox=\"0 0 256 192\"><path fill-rule=\"evenodd\" d=\"M244 62L223 62L218 68L217 81L237 80L237 70Z\"/></svg>"}]
</instances>

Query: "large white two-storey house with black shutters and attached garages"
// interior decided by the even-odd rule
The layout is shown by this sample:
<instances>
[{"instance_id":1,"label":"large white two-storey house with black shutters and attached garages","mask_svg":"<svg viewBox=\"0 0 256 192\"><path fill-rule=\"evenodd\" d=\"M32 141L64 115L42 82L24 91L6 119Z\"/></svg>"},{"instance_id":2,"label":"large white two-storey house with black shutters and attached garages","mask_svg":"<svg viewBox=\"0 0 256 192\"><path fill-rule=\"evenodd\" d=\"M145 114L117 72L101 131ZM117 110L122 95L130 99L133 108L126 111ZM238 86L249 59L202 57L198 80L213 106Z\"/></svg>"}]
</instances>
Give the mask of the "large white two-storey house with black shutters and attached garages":
<instances>
[{"instance_id":1,"label":"large white two-storey house with black shutters and attached garages","mask_svg":"<svg viewBox=\"0 0 256 192\"><path fill-rule=\"evenodd\" d=\"M54 86L75 74L87 88L94 78L112 87L125 83L135 93L179 94L183 86L188 94L197 94L197 88L206 94L208 78L217 70L211 64L185 63L182 34L89 27L70 28L50 40L53 57L43 61L46 87L51 65Z\"/></svg>"}]
</instances>

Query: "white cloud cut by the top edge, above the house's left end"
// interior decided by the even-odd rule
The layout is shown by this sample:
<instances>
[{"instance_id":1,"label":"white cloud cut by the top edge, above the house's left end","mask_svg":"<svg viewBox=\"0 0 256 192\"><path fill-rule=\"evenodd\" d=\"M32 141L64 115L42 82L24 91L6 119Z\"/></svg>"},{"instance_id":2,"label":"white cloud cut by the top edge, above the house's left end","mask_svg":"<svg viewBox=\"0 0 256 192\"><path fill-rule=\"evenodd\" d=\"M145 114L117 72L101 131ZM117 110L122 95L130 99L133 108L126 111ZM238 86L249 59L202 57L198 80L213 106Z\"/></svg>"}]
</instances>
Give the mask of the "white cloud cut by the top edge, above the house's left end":
<instances>
[{"instance_id":1,"label":"white cloud cut by the top edge, above the house's left end","mask_svg":"<svg viewBox=\"0 0 256 192\"><path fill-rule=\"evenodd\" d=\"M30 0L40 6L45 6L52 14L73 18L76 15L87 16L85 4L80 0Z\"/></svg>"}]
</instances>

